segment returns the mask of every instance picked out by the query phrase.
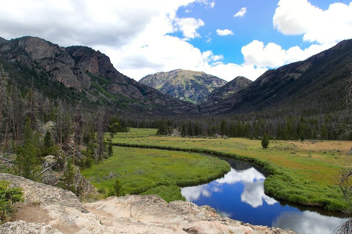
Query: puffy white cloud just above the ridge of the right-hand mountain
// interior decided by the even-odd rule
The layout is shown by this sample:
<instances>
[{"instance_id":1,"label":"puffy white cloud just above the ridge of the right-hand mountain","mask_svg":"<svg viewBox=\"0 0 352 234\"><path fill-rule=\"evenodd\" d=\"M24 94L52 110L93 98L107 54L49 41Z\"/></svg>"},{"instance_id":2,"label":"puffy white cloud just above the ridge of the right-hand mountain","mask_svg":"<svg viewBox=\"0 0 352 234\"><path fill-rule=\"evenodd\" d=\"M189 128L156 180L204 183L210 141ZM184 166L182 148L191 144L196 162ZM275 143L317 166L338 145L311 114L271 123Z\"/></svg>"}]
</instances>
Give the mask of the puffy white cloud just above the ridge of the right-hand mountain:
<instances>
[{"instance_id":1,"label":"puffy white cloud just above the ridge of the right-hand mountain","mask_svg":"<svg viewBox=\"0 0 352 234\"><path fill-rule=\"evenodd\" d=\"M254 40L250 44L243 46L241 52L244 56L244 64L276 68L287 63L307 59L334 45L336 45L335 42L324 45L311 45L303 50L298 46L284 50L275 43L268 43L268 45L264 46L263 42Z\"/></svg>"}]
</instances>

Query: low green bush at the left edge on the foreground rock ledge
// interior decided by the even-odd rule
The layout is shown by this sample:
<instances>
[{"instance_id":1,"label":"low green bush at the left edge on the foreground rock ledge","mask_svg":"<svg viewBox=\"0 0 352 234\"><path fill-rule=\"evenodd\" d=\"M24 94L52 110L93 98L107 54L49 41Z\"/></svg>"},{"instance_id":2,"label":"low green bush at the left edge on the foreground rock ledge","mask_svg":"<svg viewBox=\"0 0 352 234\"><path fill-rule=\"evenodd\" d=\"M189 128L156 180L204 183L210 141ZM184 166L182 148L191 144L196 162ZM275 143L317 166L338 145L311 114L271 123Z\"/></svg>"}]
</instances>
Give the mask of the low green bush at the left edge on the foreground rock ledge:
<instances>
[{"instance_id":1,"label":"low green bush at the left edge on the foreground rock ledge","mask_svg":"<svg viewBox=\"0 0 352 234\"><path fill-rule=\"evenodd\" d=\"M14 205L23 201L21 188L10 188L11 182L0 180L0 224L7 222L16 212Z\"/></svg>"}]
</instances>

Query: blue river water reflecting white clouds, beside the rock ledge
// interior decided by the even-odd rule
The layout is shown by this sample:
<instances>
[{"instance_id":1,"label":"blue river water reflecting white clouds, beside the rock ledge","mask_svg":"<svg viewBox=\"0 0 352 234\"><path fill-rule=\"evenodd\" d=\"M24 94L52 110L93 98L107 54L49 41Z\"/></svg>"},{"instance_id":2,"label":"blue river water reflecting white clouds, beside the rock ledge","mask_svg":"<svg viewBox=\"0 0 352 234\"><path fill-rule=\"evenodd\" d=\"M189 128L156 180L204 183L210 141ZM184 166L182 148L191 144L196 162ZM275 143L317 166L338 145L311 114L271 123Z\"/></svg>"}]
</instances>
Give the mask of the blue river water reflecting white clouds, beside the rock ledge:
<instances>
[{"instance_id":1,"label":"blue river water reflecting white clouds, beside the rock ledge","mask_svg":"<svg viewBox=\"0 0 352 234\"><path fill-rule=\"evenodd\" d=\"M250 163L221 158L231 165L224 177L181 188L187 201L214 207L222 216L253 225L293 230L298 234L332 234L341 225L336 214L277 201L264 193L268 174Z\"/></svg>"}]
</instances>

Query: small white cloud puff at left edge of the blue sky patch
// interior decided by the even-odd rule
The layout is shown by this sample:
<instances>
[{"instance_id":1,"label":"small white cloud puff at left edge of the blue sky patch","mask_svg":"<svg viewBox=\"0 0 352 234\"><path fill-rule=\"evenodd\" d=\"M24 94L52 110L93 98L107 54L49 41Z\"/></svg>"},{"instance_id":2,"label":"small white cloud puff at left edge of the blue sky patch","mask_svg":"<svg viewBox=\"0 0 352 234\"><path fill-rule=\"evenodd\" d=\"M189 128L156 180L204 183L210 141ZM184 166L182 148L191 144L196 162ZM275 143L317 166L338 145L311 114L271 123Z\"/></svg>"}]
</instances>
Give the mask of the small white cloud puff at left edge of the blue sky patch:
<instances>
[{"instance_id":1,"label":"small white cloud puff at left edge of the blue sky patch","mask_svg":"<svg viewBox=\"0 0 352 234\"><path fill-rule=\"evenodd\" d=\"M180 31L186 38L201 37L196 30L205 25L203 20L194 18L176 19L175 24L180 28Z\"/></svg>"}]
</instances>

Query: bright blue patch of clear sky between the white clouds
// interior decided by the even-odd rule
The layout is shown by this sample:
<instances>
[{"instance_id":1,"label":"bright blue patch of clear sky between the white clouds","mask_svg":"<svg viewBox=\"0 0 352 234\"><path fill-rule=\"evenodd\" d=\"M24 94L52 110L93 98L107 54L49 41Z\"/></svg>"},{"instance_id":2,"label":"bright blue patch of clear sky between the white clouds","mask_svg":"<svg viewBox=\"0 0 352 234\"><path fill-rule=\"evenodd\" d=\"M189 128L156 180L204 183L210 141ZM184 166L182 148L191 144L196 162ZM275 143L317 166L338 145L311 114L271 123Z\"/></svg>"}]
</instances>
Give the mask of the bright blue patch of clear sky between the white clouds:
<instances>
[{"instance_id":1,"label":"bright blue patch of clear sky between the white clouds","mask_svg":"<svg viewBox=\"0 0 352 234\"><path fill-rule=\"evenodd\" d=\"M309 2L326 10L330 4L339 1L311 0ZM348 1L342 2L347 3ZM278 1L276 0L220 0L215 1L213 8L205 7L202 4L191 4L181 7L177 11L177 16L180 18L193 17L202 19L205 22L205 26L197 30L202 37L191 39L189 41L190 44L201 49L201 51L211 50L214 54L224 55L222 60L224 63L243 63L241 47L253 40L262 41L265 45L269 42L274 42L283 49L289 49L297 45L304 49L313 44L312 42L303 42L302 35L286 36L274 29L272 18L277 3ZM233 17L243 7L246 7L246 14L243 17ZM186 10L190 12L186 12ZM230 29L234 34L219 36L216 34L216 29L218 28ZM206 42L206 36L209 33L211 33L209 37L212 40ZM182 37L181 34L181 32L171 33L171 35L179 37Z\"/></svg>"}]
</instances>

